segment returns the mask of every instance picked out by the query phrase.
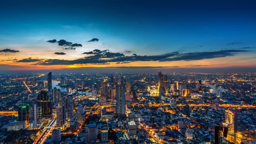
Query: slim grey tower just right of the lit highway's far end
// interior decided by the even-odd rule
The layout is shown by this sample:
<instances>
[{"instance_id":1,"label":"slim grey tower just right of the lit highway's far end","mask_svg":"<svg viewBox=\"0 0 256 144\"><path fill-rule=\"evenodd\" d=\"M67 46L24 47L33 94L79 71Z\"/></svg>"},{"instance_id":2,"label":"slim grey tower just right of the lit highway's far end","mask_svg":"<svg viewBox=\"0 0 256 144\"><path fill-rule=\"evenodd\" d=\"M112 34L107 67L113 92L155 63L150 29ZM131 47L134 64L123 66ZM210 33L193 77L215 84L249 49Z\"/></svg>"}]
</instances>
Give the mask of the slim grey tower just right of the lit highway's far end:
<instances>
[{"instance_id":1,"label":"slim grey tower just right of the lit highway's far end","mask_svg":"<svg viewBox=\"0 0 256 144\"><path fill-rule=\"evenodd\" d=\"M65 124L65 107L58 104L56 107L56 127L62 127Z\"/></svg>"}]
</instances>

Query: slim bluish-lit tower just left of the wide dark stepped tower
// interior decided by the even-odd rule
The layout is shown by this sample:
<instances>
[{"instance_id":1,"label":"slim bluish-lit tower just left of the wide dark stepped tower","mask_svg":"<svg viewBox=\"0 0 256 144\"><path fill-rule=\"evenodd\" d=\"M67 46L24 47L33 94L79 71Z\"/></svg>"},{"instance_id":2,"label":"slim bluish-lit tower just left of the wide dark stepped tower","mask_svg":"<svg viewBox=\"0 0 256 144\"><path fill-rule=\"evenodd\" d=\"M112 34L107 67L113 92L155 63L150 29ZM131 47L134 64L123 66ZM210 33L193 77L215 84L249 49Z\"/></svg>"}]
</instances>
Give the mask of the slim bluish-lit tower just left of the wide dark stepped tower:
<instances>
[{"instance_id":1,"label":"slim bluish-lit tower just left of the wide dark stepped tower","mask_svg":"<svg viewBox=\"0 0 256 144\"><path fill-rule=\"evenodd\" d=\"M28 107L28 119L32 121L32 126L30 128L37 128L38 119L38 107L36 104L29 105Z\"/></svg>"}]
</instances>

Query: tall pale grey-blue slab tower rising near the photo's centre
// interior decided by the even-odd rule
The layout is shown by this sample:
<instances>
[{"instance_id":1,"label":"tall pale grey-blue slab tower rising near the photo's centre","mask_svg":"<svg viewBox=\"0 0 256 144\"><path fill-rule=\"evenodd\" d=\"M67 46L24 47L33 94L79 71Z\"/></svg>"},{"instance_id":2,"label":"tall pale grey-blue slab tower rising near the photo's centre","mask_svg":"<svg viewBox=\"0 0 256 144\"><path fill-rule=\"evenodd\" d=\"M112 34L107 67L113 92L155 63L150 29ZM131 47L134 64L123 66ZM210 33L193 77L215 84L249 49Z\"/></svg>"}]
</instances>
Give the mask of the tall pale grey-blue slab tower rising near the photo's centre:
<instances>
[{"instance_id":1,"label":"tall pale grey-blue slab tower rising near the photo's centre","mask_svg":"<svg viewBox=\"0 0 256 144\"><path fill-rule=\"evenodd\" d=\"M125 85L116 85L116 115L124 116L126 113Z\"/></svg>"}]
</instances>

